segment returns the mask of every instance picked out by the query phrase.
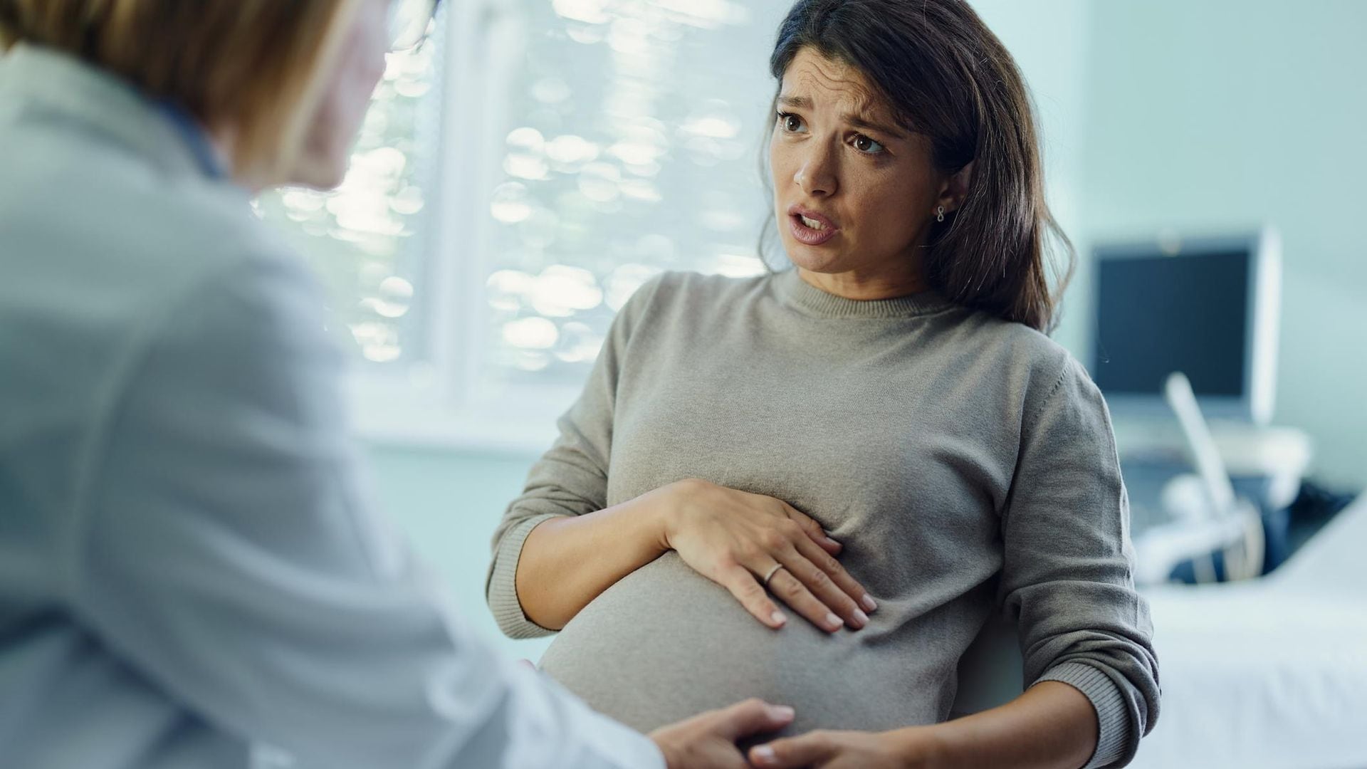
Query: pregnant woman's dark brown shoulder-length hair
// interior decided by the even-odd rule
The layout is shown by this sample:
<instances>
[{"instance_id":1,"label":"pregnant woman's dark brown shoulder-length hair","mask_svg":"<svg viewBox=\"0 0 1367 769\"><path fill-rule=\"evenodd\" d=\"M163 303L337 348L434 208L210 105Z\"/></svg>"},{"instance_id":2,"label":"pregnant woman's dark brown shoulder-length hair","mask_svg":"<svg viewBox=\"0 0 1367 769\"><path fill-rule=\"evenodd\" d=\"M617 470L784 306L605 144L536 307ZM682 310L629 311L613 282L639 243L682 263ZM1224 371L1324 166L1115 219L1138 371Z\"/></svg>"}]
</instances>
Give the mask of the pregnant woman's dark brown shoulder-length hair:
<instances>
[{"instance_id":1,"label":"pregnant woman's dark brown shoulder-length hair","mask_svg":"<svg viewBox=\"0 0 1367 769\"><path fill-rule=\"evenodd\" d=\"M973 164L962 205L932 224L930 285L956 304L1050 331L1076 255L1044 203L1029 90L997 36L964 0L798 0L779 26L772 75L782 82L804 48L858 70L908 130L930 140L938 171ZM772 233L770 222L766 242Z\"/></svg>"}]
</instances>

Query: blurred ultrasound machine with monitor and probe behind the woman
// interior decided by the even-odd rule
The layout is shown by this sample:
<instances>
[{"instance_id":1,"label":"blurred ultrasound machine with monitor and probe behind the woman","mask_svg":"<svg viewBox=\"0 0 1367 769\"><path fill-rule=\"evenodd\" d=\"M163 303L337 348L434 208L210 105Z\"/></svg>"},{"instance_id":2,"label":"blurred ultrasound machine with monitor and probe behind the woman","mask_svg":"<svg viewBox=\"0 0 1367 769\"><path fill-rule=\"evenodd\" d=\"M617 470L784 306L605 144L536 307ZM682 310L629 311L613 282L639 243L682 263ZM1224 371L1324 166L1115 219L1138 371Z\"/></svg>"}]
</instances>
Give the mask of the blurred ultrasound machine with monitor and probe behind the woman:
<instances>
[{"instance_id":1,"label":"blurred ultrasound machine with monitor and probe behind the woman","mask_svg":"<svg viewBox=\"0 0 1367 769\"><path fill-rule=\"evenodd\" d=\"M1266 573L1288 556L1304 432L1273 427L1275 230L1095 249L1092 379L1115 423L1139 582Z\"/></svg>"}]
</instances>

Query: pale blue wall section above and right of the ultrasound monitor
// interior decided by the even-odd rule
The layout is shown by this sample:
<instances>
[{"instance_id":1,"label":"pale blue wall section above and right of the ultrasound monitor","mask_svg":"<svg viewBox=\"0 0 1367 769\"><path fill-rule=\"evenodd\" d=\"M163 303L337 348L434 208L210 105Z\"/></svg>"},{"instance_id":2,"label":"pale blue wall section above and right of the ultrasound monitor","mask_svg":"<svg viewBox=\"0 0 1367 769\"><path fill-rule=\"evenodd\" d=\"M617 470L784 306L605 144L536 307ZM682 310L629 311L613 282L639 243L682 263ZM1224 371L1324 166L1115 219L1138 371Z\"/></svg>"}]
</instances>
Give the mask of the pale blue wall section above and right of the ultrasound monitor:
<instances>
[{"instance_id":1,"label":"pale blue wall section above and right of the ultrasound monitor","mask_svg":"<svg viewBox=\"0 0 1367 769\"><path fill-rule=\"evenodd\" d=\"M1274 223L1275 421L1367 483L1367 3L1096 3L1085 238ZM1087 281L1079 287L1085 289Z\"/></svg>"}]
</instances>

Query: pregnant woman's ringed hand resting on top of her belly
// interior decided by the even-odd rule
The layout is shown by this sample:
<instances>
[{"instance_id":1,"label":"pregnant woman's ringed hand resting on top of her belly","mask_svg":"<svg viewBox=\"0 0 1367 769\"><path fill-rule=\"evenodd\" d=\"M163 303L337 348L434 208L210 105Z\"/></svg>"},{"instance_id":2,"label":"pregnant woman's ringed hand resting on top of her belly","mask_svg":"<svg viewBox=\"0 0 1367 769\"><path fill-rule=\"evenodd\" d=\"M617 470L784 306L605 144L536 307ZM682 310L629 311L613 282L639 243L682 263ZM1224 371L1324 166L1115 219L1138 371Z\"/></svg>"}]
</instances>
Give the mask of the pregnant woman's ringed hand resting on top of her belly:
<instances>
[{"instance_id":1,"label":"pregnant woman's ringed hand resting on top of her belly","mask_svg":"<svg viewBox=\"0 0 1367 769\"><path fill-rule=\"evenodd\" d=\"M664 546L766 625L786 621L770 591L827 632L860 629L878 608L835 560L841 545L791 505L696 479L652 494L664 502Z\"/></svg>"}]
</instances>

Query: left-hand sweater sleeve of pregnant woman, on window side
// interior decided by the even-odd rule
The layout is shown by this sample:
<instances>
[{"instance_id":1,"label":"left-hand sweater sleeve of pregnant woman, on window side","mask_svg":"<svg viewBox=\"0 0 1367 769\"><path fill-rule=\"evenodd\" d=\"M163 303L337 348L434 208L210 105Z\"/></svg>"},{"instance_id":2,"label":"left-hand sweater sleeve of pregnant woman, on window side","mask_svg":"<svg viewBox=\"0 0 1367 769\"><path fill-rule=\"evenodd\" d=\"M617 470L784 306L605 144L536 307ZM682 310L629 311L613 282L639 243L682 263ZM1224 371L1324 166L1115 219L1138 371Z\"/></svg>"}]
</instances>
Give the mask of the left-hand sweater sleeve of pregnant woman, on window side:
<instances>
[{"instance_id":1,"label":"left-hand sweater sleeve of pregnant woman, on window side","mask_svg":"<svg viewBox=\"0 0 1367 769\"><path fill-rule=\"evenodd\" d=\"M499 628L509 638L537 638L555 631L533 623L517 595L522 545L539 524L559 516L582 516L607 506L607 468L612 449L617 384L632 330L663 278L641 286L612 320L580 398L556 423L559 438L532 465L522 494L509 505L493 531L493 561L484 586Z\"/></svg>"}]
</instances>

